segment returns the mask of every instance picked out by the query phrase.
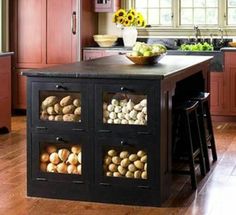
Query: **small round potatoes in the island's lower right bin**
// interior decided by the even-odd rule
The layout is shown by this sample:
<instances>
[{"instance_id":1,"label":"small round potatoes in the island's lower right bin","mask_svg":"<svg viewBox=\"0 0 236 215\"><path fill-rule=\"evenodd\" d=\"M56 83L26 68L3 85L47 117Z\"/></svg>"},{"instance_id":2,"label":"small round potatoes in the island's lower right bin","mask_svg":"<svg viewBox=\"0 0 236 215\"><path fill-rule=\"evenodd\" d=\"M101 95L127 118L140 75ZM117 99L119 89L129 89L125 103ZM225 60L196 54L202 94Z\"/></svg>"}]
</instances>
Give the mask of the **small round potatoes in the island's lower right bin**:
<instances>
[{"instance_id":1,"label":"small round potatoes in the island's lower right bin","mask_svg":"<svg viewBox=\"0 0 236 215\"><path fill-rule=\"evenodd\" d=\"M103 164L106 176L147 179L147 154L143 150L129 153L110 149Z\"/></svg>"}]
</instances>

